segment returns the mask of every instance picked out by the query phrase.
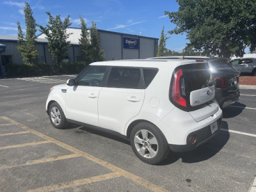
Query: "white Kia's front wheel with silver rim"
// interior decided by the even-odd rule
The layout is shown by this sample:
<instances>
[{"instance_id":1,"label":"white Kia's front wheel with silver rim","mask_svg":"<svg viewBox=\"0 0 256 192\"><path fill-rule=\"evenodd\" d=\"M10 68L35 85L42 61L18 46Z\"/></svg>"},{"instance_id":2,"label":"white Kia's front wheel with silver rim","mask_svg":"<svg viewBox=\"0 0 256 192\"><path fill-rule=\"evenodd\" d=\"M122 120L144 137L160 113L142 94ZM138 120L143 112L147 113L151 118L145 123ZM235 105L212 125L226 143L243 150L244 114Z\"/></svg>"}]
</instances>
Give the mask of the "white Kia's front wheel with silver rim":
<instances>
[{"instance_id":1,"label":"white Kia's front wheel with silver rim","mask_svg":"<svg viewBox=\"0 0 256 192\"><path fill-rule=\"evenodd\" d=\"M58 102L52 102L48 115L53 127L57 129L65 129L67 126L67 119ZM56 120L56 122L54 120Z\"/></svg>"}]
</instances>

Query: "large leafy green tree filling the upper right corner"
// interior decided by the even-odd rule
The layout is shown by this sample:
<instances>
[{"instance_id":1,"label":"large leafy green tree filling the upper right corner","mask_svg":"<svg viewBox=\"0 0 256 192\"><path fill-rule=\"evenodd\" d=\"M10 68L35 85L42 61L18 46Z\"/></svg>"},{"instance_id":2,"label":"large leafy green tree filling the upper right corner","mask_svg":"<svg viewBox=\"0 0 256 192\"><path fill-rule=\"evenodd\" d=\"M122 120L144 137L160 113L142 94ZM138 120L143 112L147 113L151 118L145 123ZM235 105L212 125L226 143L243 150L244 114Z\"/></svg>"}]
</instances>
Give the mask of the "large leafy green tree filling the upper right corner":
<instances>
[{"instance_id":1,"label":"large leafy green tree filling the upper right corner","mask_svg":"<svg viewBox=\"0 0 256 192\"><path fill-rule=\"evenodd\" d=\"M177 0L178 12L165 12L177 27L170 34L187 33L189 46L204 54L243 56L256 45L255 1ZM253 39L254 38L254 39ZM253 40L254 44L253 44Z\"/></svg>"}]
</instances>

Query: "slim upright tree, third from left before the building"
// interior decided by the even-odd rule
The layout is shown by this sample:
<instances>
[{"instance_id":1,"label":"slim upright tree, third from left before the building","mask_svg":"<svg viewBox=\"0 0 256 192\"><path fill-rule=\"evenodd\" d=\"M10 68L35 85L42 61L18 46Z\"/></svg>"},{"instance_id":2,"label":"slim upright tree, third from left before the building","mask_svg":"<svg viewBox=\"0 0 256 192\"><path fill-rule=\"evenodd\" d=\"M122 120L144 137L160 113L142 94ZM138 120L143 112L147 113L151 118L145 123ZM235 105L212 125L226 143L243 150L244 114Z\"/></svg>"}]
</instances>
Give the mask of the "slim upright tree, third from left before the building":
<instances>
[{"instance_id":1,"label":"slim upright tree, third from left before the building","mask_svg":"<svg viewBox=\"0 0 256 192\"><path fill-rule=\"evenodd\" d=\"M79 38L81 57L85 63L92 63L90 32L88 31L86 23L81 15L79 18L81 20L81 38Z\"/></svg>"}]
</instances>

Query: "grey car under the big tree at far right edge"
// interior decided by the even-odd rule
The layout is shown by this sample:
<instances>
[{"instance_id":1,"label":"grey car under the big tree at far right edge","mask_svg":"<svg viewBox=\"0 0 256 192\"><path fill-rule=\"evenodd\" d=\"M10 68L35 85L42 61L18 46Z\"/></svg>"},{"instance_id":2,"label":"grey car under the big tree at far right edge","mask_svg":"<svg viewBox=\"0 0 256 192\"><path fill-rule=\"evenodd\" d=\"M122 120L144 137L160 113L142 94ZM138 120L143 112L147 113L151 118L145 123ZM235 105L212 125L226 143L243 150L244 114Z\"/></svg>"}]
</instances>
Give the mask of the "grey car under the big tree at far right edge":
<instances>
[{"instance_id":1,"label":"grey car under the big tree at far right edge","mask_svg":"<svg viewBox=\"0 0 256 192\"><path fill-rule=\"evenodd\" d=\"M229 63L242 74L252 74L256 76L256 58L237 58Z\"/></svg>"}]
</instances>

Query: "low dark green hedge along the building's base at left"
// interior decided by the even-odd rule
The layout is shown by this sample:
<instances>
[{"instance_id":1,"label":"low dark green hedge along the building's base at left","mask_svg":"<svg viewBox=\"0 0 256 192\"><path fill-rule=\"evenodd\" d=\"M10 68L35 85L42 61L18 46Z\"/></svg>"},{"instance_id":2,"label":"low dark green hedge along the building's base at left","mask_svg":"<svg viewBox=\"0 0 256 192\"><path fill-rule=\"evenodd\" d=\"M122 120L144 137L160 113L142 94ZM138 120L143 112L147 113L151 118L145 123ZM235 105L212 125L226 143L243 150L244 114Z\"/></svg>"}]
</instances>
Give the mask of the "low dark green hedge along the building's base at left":
<instances>
[{"instance_id":1,"label":"low dark green hedge along the building's base at left","mask_svg":"<svg viewBox=\"0 0 256 192\"><path fill-rule=\"evenodd\" d=\"M60 67L57 65L47 64L13 64L8 63L5 70L8 77L31 77L31 76L51 76L53 74L78 74L86 67L86 63L61 63Z\"/></svg>"}]
</instances>

